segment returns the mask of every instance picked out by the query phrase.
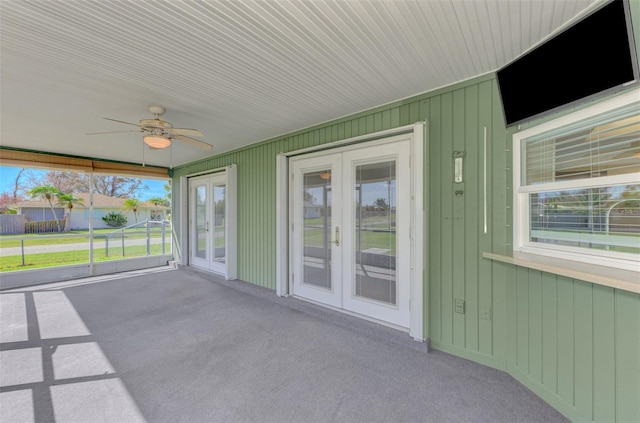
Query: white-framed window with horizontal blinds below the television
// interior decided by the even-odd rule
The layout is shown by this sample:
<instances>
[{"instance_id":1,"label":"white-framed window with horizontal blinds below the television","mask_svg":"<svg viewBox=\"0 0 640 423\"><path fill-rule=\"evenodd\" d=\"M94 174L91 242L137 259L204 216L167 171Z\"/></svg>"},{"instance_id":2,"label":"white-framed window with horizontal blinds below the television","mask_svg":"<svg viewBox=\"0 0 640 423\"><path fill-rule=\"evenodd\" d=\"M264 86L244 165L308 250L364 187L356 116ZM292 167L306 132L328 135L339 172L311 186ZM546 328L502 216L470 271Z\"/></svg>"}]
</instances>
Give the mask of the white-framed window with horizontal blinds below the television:
<instances>
[{"instance_id":1,"label":"white-framed window with horizontal blinds below the television","mask_svg":"<svg viewBox=\"0 0 640 423\"><path fill-rule=\"evenodd\" d=\"M639 268L640 95L632 94L514 135L515 249Z\"/></svg>"}]
</instances>

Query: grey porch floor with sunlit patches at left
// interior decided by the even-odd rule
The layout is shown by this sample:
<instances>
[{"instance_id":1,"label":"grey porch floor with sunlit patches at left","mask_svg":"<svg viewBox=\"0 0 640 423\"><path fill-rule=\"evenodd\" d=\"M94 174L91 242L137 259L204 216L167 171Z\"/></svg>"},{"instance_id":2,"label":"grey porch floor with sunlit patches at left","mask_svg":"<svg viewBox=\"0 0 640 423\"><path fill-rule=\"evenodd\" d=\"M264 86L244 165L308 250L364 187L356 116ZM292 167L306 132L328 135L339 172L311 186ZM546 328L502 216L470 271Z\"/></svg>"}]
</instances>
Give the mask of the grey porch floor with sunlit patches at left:
<instances>
[{"instance_id":1,"label":"grey porch floor with sunlit patches at left","mask_svg":"<svg viewBox=\"0 0 640 423\"><path fill-rule=\"evenodd\" d=\"M0 421L566 422L504 372L188 268L0 291Z\"/></svg>"}]
</instances>

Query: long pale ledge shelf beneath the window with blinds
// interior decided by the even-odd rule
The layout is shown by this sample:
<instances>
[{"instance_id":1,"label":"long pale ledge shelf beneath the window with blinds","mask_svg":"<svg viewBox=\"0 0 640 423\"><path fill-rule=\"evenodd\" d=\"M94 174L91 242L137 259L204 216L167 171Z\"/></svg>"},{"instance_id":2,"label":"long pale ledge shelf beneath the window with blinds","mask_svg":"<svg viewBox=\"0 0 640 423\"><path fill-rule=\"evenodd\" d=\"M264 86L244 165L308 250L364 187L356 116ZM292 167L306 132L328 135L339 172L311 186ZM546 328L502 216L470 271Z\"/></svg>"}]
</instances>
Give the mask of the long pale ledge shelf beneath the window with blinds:
<instances>
[{"instance_id":1,"label":"long pale ledge shelf beneath the window with blinds","mask_svg":"<svg viewBox=\"0 0 640 423\"><path fill-rule=\"evenodd\" d=\"M640 294L640 272L632 270L615 269L596 264L520 252L485 252L482 253L482 256L490 260Z\"/></svg>"}]
</instances>

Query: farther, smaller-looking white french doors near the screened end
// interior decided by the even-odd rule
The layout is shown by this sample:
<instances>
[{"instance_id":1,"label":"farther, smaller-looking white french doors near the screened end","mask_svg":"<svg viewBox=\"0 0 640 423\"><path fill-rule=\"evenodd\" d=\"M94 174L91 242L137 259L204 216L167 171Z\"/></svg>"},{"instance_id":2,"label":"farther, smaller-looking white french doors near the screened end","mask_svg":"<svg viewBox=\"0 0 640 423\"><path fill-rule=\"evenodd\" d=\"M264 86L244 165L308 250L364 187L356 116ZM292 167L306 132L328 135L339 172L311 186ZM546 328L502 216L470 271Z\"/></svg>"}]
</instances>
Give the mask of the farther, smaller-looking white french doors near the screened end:
<instances>
[{"instance_id":1,"label":"farther, smaller-looking white french doors near the screened end","mask_svg":"<svg viewBox=\"0 0 640 423\"><path fill-rule=\"evenodd\" d=\"M189 179L190 264L235 279L235 166Z\"/></svg>"}]
</instances>

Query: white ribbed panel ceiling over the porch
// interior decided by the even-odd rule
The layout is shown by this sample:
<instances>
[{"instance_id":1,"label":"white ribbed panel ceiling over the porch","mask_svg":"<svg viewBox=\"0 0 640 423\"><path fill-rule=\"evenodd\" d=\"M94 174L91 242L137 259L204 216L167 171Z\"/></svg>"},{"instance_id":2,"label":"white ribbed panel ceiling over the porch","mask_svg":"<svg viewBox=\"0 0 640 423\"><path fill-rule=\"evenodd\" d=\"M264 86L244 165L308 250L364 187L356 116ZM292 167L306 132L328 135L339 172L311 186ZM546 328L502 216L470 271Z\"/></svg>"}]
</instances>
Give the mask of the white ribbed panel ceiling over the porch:
<instances>
[{"instance_id":1,"label":"white ribbed panel ceiling over the porch","mask_svg":"<svg viewBox=\"0 0 640 423\"><path fill-rule=\"evenodd\" d=\"M0 0L0 144L179 165L495 71L596 0ZM172 154L172 158L171 158Z\"/></svg>"}]
</instances>

